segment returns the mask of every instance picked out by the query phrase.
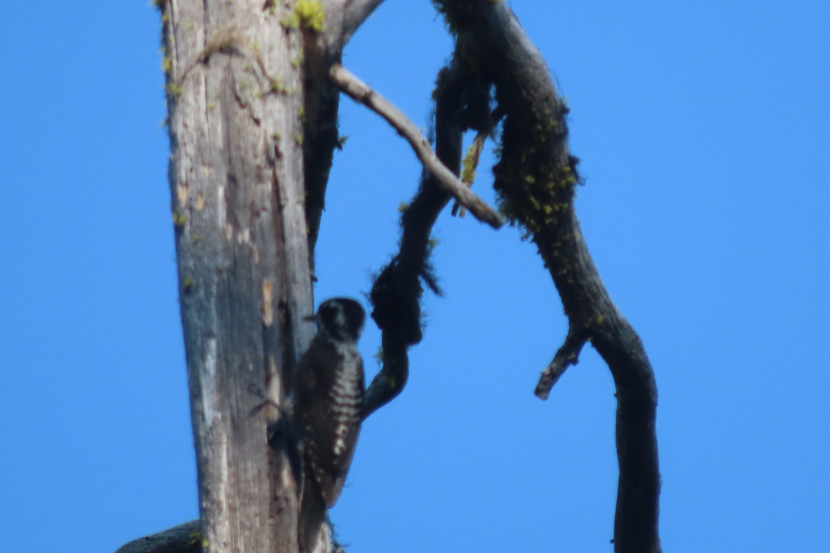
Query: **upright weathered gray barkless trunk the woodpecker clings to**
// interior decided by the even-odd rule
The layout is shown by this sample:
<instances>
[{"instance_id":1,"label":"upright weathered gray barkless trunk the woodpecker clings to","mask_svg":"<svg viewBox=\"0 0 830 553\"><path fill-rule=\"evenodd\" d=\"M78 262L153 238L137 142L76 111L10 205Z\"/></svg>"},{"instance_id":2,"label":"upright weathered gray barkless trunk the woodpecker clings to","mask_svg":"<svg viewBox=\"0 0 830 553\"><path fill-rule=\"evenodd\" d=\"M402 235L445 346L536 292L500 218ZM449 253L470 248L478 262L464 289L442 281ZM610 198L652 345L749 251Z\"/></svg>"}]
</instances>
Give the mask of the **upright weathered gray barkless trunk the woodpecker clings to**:
<instances>
[{"instance_id":1,"label":"upright weathered gray barkless trunk the woodpecker clings to","mask_svg":"<svg viewBox=\"0 0 830 553\"><path fill-rule=\"evenodd\" d=\"M296 483L266 425L313 333L302 35L285 2L168 0L180 303L207 551L296 551ZM269 420L266 420L269 419Z\"/></svg>"}]
</instances>

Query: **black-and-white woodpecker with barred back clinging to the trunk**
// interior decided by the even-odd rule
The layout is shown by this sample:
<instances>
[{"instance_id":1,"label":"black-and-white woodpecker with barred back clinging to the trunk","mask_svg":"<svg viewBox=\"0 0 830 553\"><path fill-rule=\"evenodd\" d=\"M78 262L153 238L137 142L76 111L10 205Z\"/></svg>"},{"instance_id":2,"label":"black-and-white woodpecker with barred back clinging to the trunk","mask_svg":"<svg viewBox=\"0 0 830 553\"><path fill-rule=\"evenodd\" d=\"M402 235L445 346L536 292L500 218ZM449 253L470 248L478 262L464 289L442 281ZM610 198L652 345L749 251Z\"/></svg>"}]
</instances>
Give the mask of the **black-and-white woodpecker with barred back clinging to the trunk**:
<instances>
[{"instance_id":1,"label":"black-and-white woodpecker with barred back clinging to the trunk","mask_svg":"<svg viewBox=\"0 0 830 553\"><path fill-rule=\"evenodd\" d=\"M310 320L317 335L297 365L295 415L302 439L304 483L300 549L308 551L337 502L360 432L364 401L363 359L357 349L364 309L354 299L320 304Z\"/></svg>"}]
</instances>

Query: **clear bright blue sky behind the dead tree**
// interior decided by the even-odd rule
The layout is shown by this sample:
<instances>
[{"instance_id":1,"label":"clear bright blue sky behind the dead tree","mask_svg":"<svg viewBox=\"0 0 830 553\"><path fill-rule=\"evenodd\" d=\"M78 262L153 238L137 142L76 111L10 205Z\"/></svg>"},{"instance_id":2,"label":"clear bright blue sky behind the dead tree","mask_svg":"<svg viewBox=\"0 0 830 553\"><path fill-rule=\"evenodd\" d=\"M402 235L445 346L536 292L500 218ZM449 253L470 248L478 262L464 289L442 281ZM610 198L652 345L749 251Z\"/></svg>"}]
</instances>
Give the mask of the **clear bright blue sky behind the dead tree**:
<instances>
[{"instance_id":1,"label":"clear bright blue sky behind the dead tree","mask_svg":"<svg viewBox=\"0 0 830 553\"><path fill-rule=\"evenodd\" d=\"M821 551L830 525L830 4L514 0L567 96L578 211L660 390L666 551ZM388 0L344 65L426 125L451 42ZM197 514L159 22L0 15L0 534L113 551ZM344 99L316 298L362 298L420 168ZM476 190L491 198L489 172ZM442 216L409 385L333 512L352 551L611 551L613 383L519 231ZM369 371L378 332L361 349Z\"/></svg>"}]
</instances>

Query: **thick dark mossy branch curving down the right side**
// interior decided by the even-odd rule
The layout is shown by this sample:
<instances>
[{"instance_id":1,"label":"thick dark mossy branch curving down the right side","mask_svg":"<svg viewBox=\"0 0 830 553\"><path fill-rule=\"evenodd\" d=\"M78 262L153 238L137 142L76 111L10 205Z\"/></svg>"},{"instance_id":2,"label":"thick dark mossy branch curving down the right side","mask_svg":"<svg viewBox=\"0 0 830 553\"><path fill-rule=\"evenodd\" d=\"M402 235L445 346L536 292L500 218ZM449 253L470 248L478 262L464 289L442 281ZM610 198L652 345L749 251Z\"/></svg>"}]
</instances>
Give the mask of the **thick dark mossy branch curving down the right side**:
<instances>
[{"instance_id":1,"label":"thick dark mossy branch curving down the right side","mask_svg":"<svg viewBox=\"0 0 830 553\"><path fill-rule=\"evenodd\" d=\"M540 52L505 2L435 2L459 48L496 85L505 112L495 168L502 209L527 230L559 291L572 329L584 332L617 386L618 553L661 551L658 533L657 385L637 332L619 313L593 264L574 211L577 164L568 145L568 108ZM574 332L576 332L574 330Z\"/></svg>"}]
</instances>

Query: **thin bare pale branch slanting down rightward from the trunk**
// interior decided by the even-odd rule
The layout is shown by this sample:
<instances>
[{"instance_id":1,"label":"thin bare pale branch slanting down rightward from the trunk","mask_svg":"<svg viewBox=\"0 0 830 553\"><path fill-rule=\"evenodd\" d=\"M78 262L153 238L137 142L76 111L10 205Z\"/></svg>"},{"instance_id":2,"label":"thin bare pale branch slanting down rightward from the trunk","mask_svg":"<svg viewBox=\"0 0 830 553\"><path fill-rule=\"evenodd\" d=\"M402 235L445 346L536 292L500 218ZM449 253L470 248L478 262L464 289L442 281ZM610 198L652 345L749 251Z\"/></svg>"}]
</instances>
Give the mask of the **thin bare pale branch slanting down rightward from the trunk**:
<instances>
[{"instance_id":1,"label":"thin bare pale branch slanting down rightward from the trunk","mask_svg":"<svg viewBox=\"0 0 830 553\"><path fill-rule=\"evenodd\" d=\"M435 177L438 186L470 210L473 216L476 216L476 219L486 222L495 229L505 224L504 217L500 216L496 210L464 186L464 183L459 181L458 177L453 175L441 163L441 160L432 152L427 138L422 135L417 126L406 115L401 113L400 109L389 103L383 96L378 95L377 92L369 88L369 85L349 73L343 65L332 65L329 78L335 85L339 86L340 90L386 119L403 138L406 138L413 147L417 158L423 163L424 168L432 174L432 177Z\"/></svg>"}]
</instances>

